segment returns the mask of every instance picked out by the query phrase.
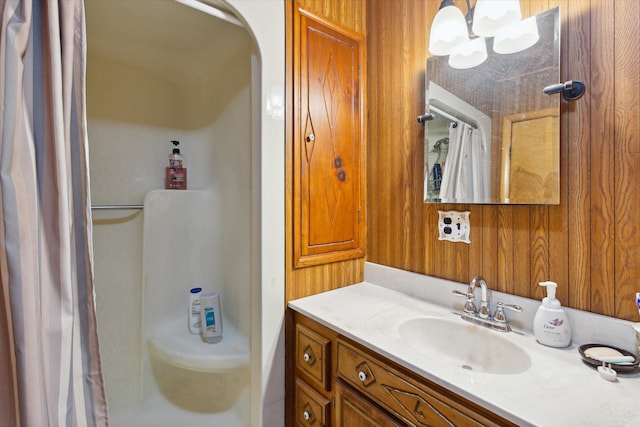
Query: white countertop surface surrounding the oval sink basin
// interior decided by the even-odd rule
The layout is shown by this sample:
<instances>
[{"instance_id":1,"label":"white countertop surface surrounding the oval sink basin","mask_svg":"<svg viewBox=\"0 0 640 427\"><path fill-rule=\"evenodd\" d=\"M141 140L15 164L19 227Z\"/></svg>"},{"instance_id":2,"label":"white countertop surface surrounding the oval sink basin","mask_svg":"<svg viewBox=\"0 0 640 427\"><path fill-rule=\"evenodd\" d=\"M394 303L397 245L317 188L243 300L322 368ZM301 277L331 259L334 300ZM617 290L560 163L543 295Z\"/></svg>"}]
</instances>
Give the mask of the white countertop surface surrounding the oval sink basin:
<instances>
[{"instance_id":1,"label":"white countertop surface surrounding the oval sink basin","mask_svg":"<svg viewBox=\"0 0 640 427\"><path fill-rule=\"evenodd\" d=\"M557 349L538 344L530 331L490 331L520 346L532 361L522 373L490 374L402 342L399 327L410 319L435 316L469 324L453 306L363 282L291 301L289 307L518 425L640 426L640 373L606 381L582 362L576 344Z\"/></svg>"}]
</instances>

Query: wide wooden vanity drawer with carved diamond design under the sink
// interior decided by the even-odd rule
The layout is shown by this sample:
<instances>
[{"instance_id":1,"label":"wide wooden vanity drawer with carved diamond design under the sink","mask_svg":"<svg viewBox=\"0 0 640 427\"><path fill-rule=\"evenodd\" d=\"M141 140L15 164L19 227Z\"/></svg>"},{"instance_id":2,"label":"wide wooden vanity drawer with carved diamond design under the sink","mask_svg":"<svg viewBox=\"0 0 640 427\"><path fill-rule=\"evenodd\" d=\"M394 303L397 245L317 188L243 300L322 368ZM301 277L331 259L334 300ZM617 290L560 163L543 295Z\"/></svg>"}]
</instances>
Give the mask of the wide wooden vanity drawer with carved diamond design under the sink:
<instances>
[{"instance_id":1,"label":"wide wooden vanity drawer with carved diamond design under the sink","mask_svg":"<svg viewBox=\"0 0 640 427\"><path fill-rule=\"evenodd\" d=\"M344 341L338 340L337 352L338 376L411 425L501 425Z\"/></svg>"}]
</instances>

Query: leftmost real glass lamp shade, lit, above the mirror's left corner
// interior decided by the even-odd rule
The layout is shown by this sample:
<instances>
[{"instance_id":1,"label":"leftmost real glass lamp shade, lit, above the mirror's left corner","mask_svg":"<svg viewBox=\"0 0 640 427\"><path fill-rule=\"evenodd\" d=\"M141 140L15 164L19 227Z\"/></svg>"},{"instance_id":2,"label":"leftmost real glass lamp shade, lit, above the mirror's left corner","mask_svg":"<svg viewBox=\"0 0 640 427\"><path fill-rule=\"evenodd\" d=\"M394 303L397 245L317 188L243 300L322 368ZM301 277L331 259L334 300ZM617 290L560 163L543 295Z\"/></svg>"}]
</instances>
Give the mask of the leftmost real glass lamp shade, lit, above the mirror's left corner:
<instances>
[{"instance_id":1,"label":"leftmost real glass lamp shade, lit, above the mirror's left corner","mask_svg":"<svg viewBox=\"0 0 640 427\"><path fill-rule=\"evenodd\" d=\"M429 52L449 55L456 46L468 41L469 33L462 11L455 6L440 9L431 23Z\"/></svg>"}]
</instances>

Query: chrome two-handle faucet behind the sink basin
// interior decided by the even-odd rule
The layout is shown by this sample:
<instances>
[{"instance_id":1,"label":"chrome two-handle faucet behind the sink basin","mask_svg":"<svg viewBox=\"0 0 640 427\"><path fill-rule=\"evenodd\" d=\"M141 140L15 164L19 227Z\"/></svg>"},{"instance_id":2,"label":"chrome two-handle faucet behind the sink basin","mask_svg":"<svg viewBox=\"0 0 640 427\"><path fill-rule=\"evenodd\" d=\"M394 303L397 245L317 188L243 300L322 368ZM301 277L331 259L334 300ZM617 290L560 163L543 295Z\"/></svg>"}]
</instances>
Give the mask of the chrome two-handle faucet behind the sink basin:
<instances>
[{"instance_id":1,"label":"chrome two-handle faucet behind the sink basin","mask_svg":"<svg viewBox=\"0 0 640 427\"><path fill-rule=\"evenodd\" d=\"M476 309L476 287L480 285L480 307ZM471 283L469 283L469 289L466 293L454 290L453 293L458 296L467 298L467 302L464 304L462 318L482 326L486 326L497 331L508 332L511 330L509 322L504 314L504 309L520 312L522 307L515 304L505 304L502 301L498 301L496 305L496 311L491 315L489 309L489 302L491 298L491 291L487 287L487 282L481 276L475 276Z\"/></svg>"}]
</instances>

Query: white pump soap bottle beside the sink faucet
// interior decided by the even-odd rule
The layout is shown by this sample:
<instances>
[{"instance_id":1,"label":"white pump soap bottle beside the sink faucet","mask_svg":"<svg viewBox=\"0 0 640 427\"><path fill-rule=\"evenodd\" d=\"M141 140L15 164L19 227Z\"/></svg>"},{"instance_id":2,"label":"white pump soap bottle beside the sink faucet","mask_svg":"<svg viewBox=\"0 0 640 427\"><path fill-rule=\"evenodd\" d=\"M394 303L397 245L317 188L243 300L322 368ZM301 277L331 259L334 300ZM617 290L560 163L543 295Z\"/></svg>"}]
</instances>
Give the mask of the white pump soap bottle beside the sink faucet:
<instances>
[{"instance_id":1,"label":"white pump soap bottle beside the sink faucet","mask_svg":"<svg viewBox=\"0 0 640 427\"><path fill-rule=\"evenodd\" d=\"M571 343L571 324L567 313L556 298L555 282L540 282L547 288L547 296L542 300L533 318L533 334L540 344L550 347L566 347Z\"/></svg>"}]
</instances>

